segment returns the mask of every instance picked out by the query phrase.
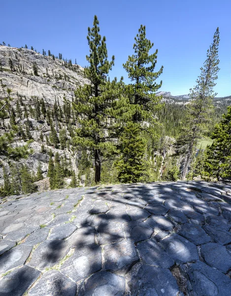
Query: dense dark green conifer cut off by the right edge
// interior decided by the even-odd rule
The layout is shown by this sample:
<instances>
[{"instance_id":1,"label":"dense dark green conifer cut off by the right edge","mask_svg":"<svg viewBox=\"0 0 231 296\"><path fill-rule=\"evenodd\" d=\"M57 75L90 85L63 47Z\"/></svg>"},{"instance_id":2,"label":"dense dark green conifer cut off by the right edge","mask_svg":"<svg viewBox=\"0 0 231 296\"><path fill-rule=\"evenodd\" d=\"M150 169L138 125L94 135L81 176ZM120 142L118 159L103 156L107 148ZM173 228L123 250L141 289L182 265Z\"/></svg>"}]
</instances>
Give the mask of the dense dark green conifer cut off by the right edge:
<instances>
[{"instance_id":1,"label":"dense dark green conifer cut off by the right edge","mask_svg":"<svg viewBox=\"0 0 231 296\"><path fill-rule=\"evenodd\" d=\"M231 178L231 106L212 134L213 144L205 151L204 171L209 177Z\"/></svg>"}]
</instances>

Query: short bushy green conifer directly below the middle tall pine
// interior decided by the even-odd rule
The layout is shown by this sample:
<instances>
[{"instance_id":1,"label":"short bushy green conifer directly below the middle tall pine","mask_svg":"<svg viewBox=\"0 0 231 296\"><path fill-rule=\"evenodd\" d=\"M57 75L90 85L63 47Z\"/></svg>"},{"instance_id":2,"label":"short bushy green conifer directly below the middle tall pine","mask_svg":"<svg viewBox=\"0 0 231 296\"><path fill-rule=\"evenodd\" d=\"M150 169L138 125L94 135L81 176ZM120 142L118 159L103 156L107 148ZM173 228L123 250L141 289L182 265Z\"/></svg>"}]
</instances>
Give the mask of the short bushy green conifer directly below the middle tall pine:
<instances>
[{"instance_id":1,"label":"short bushy green conifer directly below the middle tall pine","mask_svg":"<svg viewBox=\"0 0 231 296\"><path fill-rule=\"evenodd\" d=\"M122 157L117 162L118 179L122 183L141 182L147 163L144 159L146 141L137 123L129 122L120 139Z\"/></svg>"}]
</instances>

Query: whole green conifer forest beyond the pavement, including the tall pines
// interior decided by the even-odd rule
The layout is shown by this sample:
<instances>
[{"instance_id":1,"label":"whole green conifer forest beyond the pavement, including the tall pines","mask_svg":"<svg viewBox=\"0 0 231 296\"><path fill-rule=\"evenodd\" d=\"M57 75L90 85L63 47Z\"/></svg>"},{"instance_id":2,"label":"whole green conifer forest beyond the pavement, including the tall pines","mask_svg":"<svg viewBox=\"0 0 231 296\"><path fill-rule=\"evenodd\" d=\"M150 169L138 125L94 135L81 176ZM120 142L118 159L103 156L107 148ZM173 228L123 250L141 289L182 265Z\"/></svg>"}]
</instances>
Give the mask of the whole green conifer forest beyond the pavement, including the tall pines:
<instances>
[{"instance_id":1,"label":"whole green conifer forest beyond the pavement, including the tall pines","mask_svg":"<svg viewBox=\"0 0 231 296\"><path fill-rule=\"evenodd\" d=\"M218 104L221 99L213 91L219 72L219 30L187 102L156 95L164 67L156 69L158 50L153 50L145 26L140 26L132 55L123 65L129 84L123 77L110 79L115 57L108 58L106 38L99 31L95 16L93 27L88 28L88 66L84 70L76 60L72 63L62 54L42 51L49 61L60 60L62 67L85 78L86 83L76 85L71 100L64 97L62 102L55 99L48 104L43 97L27 98L19 93L15 99L13 90L0 79L0 195L31 193L43 179L50 189L229 179L231 107L226 110L226 105ZM29 50L27 45L19 50L25 49ZM35 51L33 46L30 50ZM36 61L31 72L11 58L7 66L0 61L1 77L18 73L43 76L47 81L73 79L48 70L42 74ZM214 141L204 149L200 142L207 138ZM36 171L27 163L34 141L40 145ZM70 155L77 155L74 162ZM47 162L47 170L42 170L42 162Z\"/></svg>"}]
</instances>

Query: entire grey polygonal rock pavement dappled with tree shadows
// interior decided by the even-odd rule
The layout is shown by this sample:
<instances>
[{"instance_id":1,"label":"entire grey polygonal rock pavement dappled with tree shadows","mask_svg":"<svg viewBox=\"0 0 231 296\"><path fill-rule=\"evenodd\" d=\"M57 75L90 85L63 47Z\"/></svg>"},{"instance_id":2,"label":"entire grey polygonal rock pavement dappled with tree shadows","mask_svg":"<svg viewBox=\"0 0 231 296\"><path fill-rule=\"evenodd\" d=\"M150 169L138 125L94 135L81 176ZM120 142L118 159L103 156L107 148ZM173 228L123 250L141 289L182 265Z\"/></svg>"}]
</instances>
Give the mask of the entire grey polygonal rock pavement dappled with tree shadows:
<instances>
[{"instance_id":1,"label":"entire grey polygonal rock pavement dappled with tree shadows","mask_svg":"<svg viewBox=\"0 0 231 296\"><path fill-rule=\"evenodd\" d=\"M62 189L0 200L0 296L230 296L231 185Z\"/></svg>"}]
</instances>

